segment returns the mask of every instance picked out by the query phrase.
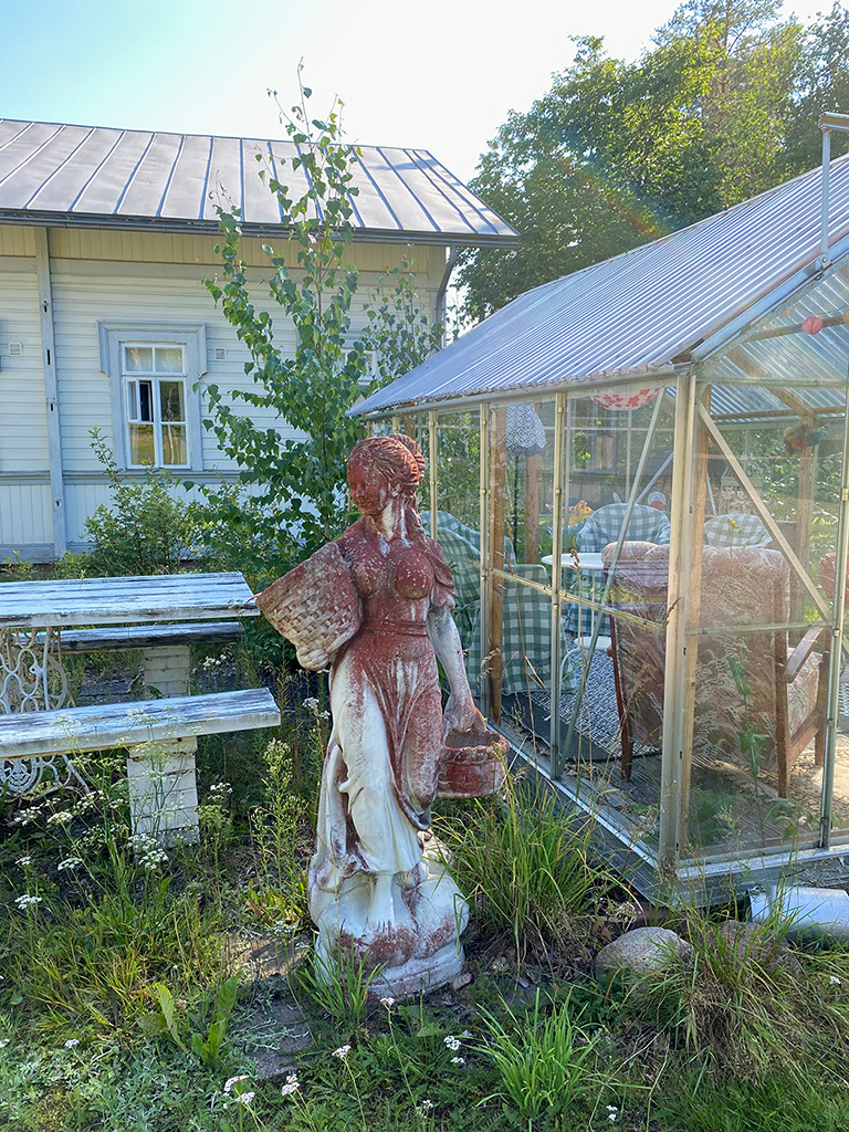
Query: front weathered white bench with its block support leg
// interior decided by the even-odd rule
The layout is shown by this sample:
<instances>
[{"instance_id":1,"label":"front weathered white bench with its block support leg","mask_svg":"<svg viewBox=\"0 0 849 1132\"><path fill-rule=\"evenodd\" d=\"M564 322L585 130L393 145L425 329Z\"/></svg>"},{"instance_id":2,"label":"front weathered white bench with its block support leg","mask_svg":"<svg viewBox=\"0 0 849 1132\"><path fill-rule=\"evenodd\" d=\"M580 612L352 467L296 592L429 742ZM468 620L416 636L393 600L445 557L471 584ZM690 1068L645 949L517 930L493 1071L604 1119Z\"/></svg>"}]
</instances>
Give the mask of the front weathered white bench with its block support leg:
<instances>
[{"instance_id":1,"label":"front weathered white bench with its block support leg","mask_svg":"<svg viewBox=\"0 0 849 1132\"><path fill-rule=\"evenodd\" d=\"M197 737L278 724L267 688L23 712L0 717L0 760L126 747L132 830L168 844L197 839Z\"/></svg>"}]
</instances>

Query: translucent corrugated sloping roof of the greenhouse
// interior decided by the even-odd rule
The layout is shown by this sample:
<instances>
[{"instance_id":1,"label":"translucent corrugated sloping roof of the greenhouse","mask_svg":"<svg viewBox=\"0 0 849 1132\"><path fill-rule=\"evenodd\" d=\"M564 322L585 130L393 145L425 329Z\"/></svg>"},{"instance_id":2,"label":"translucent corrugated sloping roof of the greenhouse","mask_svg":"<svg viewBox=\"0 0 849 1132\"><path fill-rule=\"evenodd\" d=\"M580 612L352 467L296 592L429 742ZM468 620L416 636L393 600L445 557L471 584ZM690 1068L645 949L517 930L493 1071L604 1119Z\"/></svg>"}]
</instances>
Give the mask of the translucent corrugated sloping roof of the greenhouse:
<instances>
[{"instance_id":1,"label":"translucent corrugated sloping roof of the greenhouse","mask_svg":"<svg viewBox=\"0 0 849 1132\"><path fill-rule=\"evenodd\" d=\"M817 168L672 235L528 291L352 413L668 374L700 343L715 353L820 272L821 182ZM837 258L849 251L849 155L832 163L830 188L830 248Z\"/></svg>"}]
</instances>

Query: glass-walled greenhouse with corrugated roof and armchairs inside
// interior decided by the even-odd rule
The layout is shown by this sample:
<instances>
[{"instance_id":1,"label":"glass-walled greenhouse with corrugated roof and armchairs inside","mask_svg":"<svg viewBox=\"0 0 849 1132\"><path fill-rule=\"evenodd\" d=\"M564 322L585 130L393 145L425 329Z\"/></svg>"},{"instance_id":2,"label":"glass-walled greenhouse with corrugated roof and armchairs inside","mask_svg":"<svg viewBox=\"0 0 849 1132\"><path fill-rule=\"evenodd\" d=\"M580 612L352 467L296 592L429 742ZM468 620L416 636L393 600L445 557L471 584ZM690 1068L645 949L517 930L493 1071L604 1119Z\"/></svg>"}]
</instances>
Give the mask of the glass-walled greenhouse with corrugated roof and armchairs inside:
<instances>
[{"instance_id":1,"label":"glass-walled greenhouse with corrugated roof and armchairs inside","mask_svg":"<svg viewBox=\"0 0 849 1132\"><path fill-rule=\"evenodd\" d=\"M650 897L849 876L849 161L823 168L353 410L429 453L482 711Z\"/></svg>"}]
</instances>

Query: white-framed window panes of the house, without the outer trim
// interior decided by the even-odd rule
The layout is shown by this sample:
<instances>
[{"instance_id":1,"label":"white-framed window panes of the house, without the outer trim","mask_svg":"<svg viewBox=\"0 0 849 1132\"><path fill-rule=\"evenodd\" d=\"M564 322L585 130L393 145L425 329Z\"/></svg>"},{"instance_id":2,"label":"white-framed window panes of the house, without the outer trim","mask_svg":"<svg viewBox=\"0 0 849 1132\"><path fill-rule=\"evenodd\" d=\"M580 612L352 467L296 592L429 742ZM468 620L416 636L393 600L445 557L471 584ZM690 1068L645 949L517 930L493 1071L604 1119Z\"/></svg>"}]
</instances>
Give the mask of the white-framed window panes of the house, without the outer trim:
<instances>
[{"instance_id":1,"label":"white-framed window panes of the house, without the outer trim","mask_svg":"<svg viewBox=\"0 0 849 1132\"><path fill-rule=\"evenodd\" d=\"M121 343L127 393L127 464L189 466L186 348Z\"/></svg>"}]
</instances>

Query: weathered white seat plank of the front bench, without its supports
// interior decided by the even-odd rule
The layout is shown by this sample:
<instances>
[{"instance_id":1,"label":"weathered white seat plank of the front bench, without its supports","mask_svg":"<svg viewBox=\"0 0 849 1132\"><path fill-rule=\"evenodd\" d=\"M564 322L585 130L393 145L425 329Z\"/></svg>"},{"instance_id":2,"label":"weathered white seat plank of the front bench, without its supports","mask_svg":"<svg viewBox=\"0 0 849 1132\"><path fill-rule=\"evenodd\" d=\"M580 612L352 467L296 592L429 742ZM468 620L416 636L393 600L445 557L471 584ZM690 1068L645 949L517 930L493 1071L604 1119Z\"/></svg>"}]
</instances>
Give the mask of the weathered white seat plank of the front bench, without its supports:
<instances>
[{"instance_id":1,"label":"weathered white seat plank of the front bench, without its supports","mask_svg":"<svg viewBox=\"0 0 849 1132\"><path fill-rule=\"evenodd\" d=\"M268 688L0 717L0 760L277 727Z\"/></svg>"}]
</instances>

